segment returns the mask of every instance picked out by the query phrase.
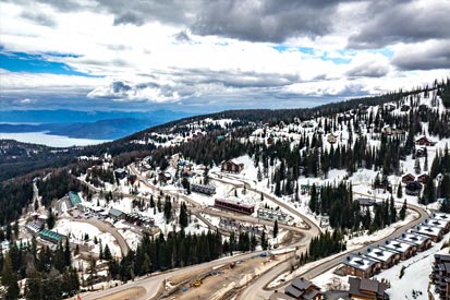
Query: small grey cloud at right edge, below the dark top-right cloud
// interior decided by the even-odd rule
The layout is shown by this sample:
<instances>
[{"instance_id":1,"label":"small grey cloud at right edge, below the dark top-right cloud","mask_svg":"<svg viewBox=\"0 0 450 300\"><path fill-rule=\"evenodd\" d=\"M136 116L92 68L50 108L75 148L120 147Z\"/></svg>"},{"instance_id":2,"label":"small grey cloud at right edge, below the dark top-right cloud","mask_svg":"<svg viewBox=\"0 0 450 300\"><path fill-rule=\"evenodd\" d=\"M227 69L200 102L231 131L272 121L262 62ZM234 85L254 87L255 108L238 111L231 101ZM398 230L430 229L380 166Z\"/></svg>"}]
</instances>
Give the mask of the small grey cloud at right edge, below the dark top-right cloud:
<instances>
[{"instance_id":1,"label":"small grey cloud at right edge, below the dark top-right cloud","mask_svg":"<svg viewBox=\"0 0 450 300\"><path fill-rule=\"evenodd\" d=\"M450 39L399 47L392 63L401 70L450 69Z\"/></svg>"}]
</instances>

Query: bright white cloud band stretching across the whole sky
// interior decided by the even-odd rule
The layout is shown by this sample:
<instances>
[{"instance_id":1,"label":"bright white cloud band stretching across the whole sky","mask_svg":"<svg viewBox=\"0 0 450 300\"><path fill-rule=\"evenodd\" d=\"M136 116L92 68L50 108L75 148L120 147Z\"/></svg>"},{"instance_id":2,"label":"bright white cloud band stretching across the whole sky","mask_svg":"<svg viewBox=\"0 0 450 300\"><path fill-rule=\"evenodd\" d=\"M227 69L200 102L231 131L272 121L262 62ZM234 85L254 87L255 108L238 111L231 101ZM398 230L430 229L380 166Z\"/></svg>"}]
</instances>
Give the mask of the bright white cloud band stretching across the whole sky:
<instances>
[{"instance_id":1,"label":"bright white cloud band stretching across the whole sky","mask_svg":"<svg viewBox=\"0 0 450 300\"><path fill-rule=\"evenodd\" d=\"M100 7L61 11L49 4L28 7L25 2L1 5L3 51L44 53L48 60L95 76L2 70L2 93L7 94L61 93L197 105L199 99L251 101L275 93L293 98L377 94L448 75L446 61L437 62L443 65L442 70L402 71L410 67L415 70L415 65L408 63L411 59L429 64L431 58L424 58L433 52L430 41L389 46L392 61L381 52L345 49L349 37L360 33L360 23L367 16L370 1L339 3L330 32L314 38L290 37L283 43L292 47L287 51L273 49L276 45L270 43L195 35L188 29L190 24L177 22L146 21L141 26L117 22L113 26L117 15ZM94 5L94 2L84 4L87 3ZM29 9L34 13L26 13ZM193 15L184 19L195 20ZM309 47L313 51L304 53L294 49L297 47ZM58 57L49 52L76 56ZM439 58L445 60L446 56ZM339 59L350 62L333 61ZM118 88L118 82L127 87Z\"/></svg>"}]
</instances>

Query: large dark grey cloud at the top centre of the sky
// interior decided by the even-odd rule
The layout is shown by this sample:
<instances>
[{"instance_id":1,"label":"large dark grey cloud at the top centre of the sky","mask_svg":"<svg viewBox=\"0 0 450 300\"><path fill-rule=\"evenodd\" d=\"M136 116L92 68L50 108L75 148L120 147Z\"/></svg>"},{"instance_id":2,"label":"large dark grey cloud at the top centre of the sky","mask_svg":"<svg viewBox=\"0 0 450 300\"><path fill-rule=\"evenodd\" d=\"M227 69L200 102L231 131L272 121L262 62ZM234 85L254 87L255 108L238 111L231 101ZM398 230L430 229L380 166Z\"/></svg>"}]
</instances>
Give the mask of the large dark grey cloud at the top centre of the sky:
<instances>
[{"instance_id":1,"label":"large dark grey cloud at the top centre of the sky","mask_svg":"<svg viewBox=\"0 0 450 300\"><path fill-rule=\"evenodd\" d=\"M211 1L191 29L198 35L282 43L293 36L329 33L336 8L336 1Z\"/></svg>"}]
</instances>

